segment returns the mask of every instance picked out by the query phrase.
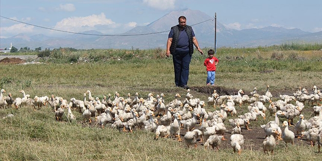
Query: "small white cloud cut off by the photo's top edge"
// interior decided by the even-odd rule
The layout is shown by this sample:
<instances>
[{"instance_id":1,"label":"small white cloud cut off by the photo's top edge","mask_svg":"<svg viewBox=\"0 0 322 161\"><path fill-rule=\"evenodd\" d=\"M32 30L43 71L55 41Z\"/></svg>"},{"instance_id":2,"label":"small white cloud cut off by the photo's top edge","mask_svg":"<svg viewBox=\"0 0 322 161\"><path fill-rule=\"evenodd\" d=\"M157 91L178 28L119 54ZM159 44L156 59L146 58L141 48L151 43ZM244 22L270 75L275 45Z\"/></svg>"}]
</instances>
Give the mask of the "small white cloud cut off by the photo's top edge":
<instances>
[{"instance_id":1,"label":"small white cloud cut off by the photo's top edge","mask_svg":"<svg viewBox=\"0 0 322 161\"><path fill-rule=\"evenodd\" d=\"M167 10L175 8L176 0L143 0L143 3L149 7L156 8L159 10Z\"/></svg>"}]
</instances>

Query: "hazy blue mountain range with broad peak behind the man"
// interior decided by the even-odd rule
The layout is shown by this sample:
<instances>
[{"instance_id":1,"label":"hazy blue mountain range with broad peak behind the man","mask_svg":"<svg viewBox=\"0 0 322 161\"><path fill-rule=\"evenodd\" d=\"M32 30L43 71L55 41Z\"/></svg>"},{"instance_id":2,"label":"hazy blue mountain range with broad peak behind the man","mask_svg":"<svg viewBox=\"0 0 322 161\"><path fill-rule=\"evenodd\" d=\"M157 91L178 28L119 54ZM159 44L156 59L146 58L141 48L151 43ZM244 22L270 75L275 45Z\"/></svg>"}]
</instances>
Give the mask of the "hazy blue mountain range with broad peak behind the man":
<instances>
[{"instance_id":1,"label":"hazy blue mountain range with broad peak behind the man","mask_svg":"<svg viewBox=\"0 0 322 161\"><path fill-rule=\"evenodd\" d=\"M165 49L170 28L178 24L178 18L181 15L187 18L187 25L193 27L201 48L214 46L214 18L198 10L184 9L170 12L146 26L137 26L123 34L108 35L93 30L65 37L48 37L43 34L29 37L25 34L18 34L7 39L1 38L0 48L9 47L12 42L15 47L28 46L31 49L37 47L43 49L59 47L73 47L76 49L149 49L161 47ZM272 26L234 30L226 28L219 21L216 24L218 47L257 47L288 42L322 43L322 32L310 33L300 29L285 29Z\"/></svg>"}]
</instances>

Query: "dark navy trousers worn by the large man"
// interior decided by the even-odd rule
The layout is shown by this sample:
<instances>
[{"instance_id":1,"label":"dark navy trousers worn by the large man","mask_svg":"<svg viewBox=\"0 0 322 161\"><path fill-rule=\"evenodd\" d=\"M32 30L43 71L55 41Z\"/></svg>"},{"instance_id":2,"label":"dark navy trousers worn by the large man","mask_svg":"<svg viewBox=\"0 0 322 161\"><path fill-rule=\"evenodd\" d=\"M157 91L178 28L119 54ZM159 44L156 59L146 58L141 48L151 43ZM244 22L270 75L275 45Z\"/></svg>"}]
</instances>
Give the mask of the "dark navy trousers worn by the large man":
<instances>
[{"instance_id":1,"label":"dark navy trousers worn by the large man","mask_svg":"<svg viewBox=\"0 0 322 161\"><path fill-rule=\"evenodd\" d=\"M187 85L191 55L189 51L176 51L172 55L176 86Z\"/></svg>"}]
</instances>

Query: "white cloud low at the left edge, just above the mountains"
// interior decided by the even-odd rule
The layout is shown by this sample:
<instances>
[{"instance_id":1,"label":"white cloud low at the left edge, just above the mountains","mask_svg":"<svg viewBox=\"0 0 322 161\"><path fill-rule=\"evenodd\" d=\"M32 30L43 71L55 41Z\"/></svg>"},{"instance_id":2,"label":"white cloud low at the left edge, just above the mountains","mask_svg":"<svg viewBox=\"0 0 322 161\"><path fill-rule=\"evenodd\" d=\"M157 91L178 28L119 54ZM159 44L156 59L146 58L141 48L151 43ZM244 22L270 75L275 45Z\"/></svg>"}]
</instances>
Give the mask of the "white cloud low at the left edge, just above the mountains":
<instances>
[{"instance_id":1,"label":"white cloud low at the left edge, just above the mountains","mask_svg":"<svg viewBox=\"0 0 322 161\"><path fill-rule=\"evenodd\" d=\"M1 37L5 37L3 35L15 35L19 33L32 33L34 31L34 26L18 23L9 27L1 27L0 33Z\"/></svg>"}]
</instances>

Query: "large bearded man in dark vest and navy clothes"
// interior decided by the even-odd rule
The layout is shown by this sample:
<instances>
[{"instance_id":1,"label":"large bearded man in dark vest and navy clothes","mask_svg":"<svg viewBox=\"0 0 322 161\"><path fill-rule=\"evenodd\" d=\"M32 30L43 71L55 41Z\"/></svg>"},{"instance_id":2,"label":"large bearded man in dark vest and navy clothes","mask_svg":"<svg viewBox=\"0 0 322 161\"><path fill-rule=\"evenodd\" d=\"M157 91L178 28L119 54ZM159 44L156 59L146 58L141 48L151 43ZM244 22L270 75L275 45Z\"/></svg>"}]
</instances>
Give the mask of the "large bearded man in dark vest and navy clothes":
<instances>
[{"instance_id":1,"label":"large bearded man in dark vest and navy clothes","mask_svg":"<svg viewBox=\"0 0 322 161\"><path fill-rule=\"evenodd\" d=\"M186 18L179 17L179 24L171 27L166 43L167 57L172 55L175 83L177 87L188 89L189 65L193 54L193 45L203 54L191 26L186 25Z\"/></svg>"}]
</instances>

